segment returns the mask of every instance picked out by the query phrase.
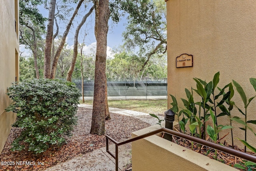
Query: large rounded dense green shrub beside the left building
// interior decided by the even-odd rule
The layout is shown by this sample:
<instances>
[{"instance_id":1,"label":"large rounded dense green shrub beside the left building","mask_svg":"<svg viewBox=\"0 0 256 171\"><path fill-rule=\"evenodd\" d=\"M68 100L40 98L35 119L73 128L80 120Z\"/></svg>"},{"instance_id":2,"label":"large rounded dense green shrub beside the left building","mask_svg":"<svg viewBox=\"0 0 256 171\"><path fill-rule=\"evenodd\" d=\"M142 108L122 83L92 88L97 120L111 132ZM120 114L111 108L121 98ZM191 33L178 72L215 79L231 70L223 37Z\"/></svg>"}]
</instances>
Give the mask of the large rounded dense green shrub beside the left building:
<instances>
[{"instance_id":1,"label":"large rounded dense green shrub beside the left building","mask_svg":"<svg viewBox=\"0 0 256 171\"><path fill-rule=\"evenodd\" d=\"M76 125L80 93L73 83L32 79L8 88L13 104L7 112L17 114L14 127L22 128L12 143L12 151L28 149L44 152L50 145L62 145Z\"/></svg>"}]
</instances>

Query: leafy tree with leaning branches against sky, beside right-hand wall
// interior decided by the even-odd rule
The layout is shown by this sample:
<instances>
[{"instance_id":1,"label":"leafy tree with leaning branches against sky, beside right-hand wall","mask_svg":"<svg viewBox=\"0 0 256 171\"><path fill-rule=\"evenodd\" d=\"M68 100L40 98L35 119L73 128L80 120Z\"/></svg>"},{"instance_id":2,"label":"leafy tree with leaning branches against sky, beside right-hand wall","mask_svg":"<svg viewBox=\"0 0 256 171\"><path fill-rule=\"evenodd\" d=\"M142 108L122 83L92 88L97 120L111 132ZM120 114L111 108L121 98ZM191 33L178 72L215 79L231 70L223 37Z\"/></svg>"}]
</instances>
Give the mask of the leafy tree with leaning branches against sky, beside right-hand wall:
<instances>
[{"instance_id":1,"label":"leafy tree with leaning branches against sky, beside right-hand wall","mask_svg":"<svg viewBox=\"0 0 256 171\"><path fill-rule=\"evenodd\" d=\"M128 13L126 31L123 33L128 50L139 49L142 58L140 72L145 71L150 59L158 53L166 53L166 4L162 0L118 0L110 3L112 18L118 22Z\"/></svg>"}]
</instances>

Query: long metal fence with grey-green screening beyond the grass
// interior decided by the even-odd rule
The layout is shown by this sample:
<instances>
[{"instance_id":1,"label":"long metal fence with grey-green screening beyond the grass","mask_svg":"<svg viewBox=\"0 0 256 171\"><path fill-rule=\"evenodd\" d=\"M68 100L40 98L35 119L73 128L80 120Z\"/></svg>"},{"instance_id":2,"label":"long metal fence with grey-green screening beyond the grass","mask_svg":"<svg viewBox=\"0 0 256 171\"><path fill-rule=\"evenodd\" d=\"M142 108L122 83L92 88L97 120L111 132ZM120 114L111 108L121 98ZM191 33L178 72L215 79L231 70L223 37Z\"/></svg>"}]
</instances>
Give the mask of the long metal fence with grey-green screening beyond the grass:
<instances>
[{"instance_id":1,"label":"long metal fence with grey-green screening beyond the grass","mask_svg":"<svg viewBox=\"0 0 256 171\"><path fill-rule=\"evenodd\" d=\"M72 79L82 90L82 79ZM84 79L84 96L93 96L94 80ZM107 79L108 96L167 96L167 79Z\"/></svg>"}]
</instances>

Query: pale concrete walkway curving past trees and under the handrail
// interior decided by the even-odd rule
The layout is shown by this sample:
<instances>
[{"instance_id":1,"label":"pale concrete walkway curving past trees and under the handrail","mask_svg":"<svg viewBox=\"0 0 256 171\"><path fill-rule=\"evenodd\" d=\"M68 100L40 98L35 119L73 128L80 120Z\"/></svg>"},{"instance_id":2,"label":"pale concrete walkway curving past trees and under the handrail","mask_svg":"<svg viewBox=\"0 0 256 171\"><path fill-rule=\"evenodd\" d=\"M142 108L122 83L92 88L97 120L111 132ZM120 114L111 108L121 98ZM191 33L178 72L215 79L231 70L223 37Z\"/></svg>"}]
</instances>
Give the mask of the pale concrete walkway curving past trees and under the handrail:
<instances>
[{"instance_id":1,"label":"pale concrete walkway curving past trees and under the handrail","mask_svg":"<svg viewBox=\"0 0 256 171\"><path fill-rule=\"evenodd\" d=\"M80 108L91 108L89 104L79 104ZM109 111L116 114L123 114L126 116L132 116L138 118L144 122L154 125L157 122L156 118L153 118L149 114L143 112L136 112L133 110L125 110L119 108L109 108ZM163 117L161 118L163 119ZM131 163L131 143L121 145L118 147L118 167L119 170ZM114 144L109 146L109 150L115 154ZM106 147L95 149L90 153L83 154L78 157L74 157L64 163L59 163L55 166L47 168L45 171L115 171L115 159L106 152Z\"/></svg>"}]
</instances>

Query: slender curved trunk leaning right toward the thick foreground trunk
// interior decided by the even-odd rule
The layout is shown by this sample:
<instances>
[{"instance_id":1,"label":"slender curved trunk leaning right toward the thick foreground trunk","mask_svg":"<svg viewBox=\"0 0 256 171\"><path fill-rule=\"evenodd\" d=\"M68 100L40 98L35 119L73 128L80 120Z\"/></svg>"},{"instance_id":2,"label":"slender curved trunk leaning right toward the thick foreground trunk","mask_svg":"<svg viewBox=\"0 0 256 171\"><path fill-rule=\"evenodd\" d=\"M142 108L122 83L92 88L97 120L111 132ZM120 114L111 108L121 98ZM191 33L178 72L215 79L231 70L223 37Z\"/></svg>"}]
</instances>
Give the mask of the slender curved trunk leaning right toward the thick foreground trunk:
<instances>
[{"instance_id":1,"label":"slender curved trunk leaning right toward the thick foreground trunk","mask_svg":"<svg viewBox=\"0 0 256 171\"><path fill-rule=\"evenodd\" d=\"M92 14L92 11L94 9L94 6L92 6L92 8L89 10L89 12L87 14L85 14L85 16L83 17L82 21L80 22L80 24L77 26L76 28L76 33L74 36L74 52L73 52L73 58L70 64L70 67L68 69L68 73L67 73L67 81L71 81L71 77L72 77L72 73L74 71L74 67L75 67L75 63L76 63L76 57L77 57L77 44L78 44L78 34L79 34L79 30L80 28L83 26L83 24L85 23L86 19L88 18L88 16L90 16L90 14Z\"/></svg>"}]
</instances>

